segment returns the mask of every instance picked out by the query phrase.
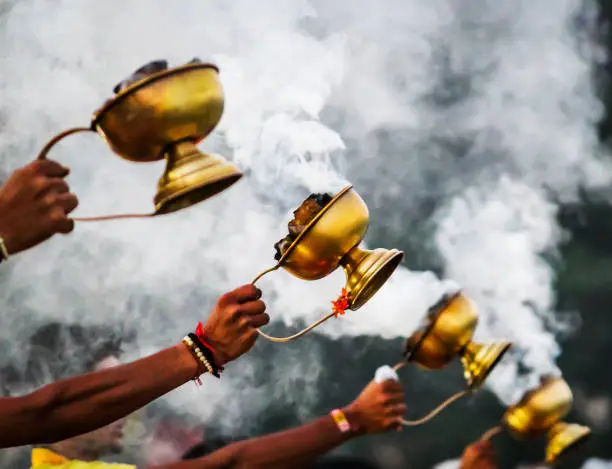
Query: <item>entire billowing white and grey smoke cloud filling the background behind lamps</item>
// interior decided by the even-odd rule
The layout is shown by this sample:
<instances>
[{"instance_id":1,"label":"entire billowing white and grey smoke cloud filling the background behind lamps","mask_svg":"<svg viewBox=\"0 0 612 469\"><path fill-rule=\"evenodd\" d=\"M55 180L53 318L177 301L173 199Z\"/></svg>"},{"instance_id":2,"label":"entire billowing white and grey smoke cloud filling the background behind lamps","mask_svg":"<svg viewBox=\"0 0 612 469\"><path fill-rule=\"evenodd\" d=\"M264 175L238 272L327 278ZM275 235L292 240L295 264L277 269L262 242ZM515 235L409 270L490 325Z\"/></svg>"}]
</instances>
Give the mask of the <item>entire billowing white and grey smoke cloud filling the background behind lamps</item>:
<instances>
[{"instance_id":1,"label":"entire billowing white and grey smoke cloud filling the background behind lamps","mask_svg":"<svg viewBox=\"0 0 612 469\"><path fill-rule=\"evenodd\" d=\"M115 83L143 63L198 56L220 66L227 94L218 132L204 148L224 151L248 175L191 210L80 224L20 255L2 290L13 311L5 329L17 338L30 317L129 318L139 324L143 351L176 341L216 296L272 265L291 208L309 191L336 190L348 178L373 216L384 215L378 228L390 234L408 236L423 216L419 207L435 201L434 241L423 248L433 244L446 276L479 304L478 334L517 344L515 359L489 381L502 401L555 370L553 271L541 257L560 239L554 201L580 186L599 187L611 174L596 154L601 105L589 81L596 50L578 47L569 25L581 2L386 3L185 1L170 8L159 0L22 0L7 7L4 169L32 159L54 133L86 124ZM88 136L51 157L72 168L79 215L150 210L161 163L126 163ZM328 312L342 284L341 272L310 283L280 272L261 287L272 318L297 324ZM433 273L402 268L368 305L319 331L407 336L448 288ZM317 350L306 349L279 355L272 382L299 387L308 403L317 397L306 392L320 365ZM529 371L524 382L519 360ZM248 396L256 415L256 397L265 402L282 386L253 394L248 384L255 386L259 370L248 359L236 366L246 394L224 379L207 384L205 404L201 392L173 397L202 415L225 407L232 420L232 403ZM232 400L221 404L228 394Z\"/></svg>"}]
</instances>

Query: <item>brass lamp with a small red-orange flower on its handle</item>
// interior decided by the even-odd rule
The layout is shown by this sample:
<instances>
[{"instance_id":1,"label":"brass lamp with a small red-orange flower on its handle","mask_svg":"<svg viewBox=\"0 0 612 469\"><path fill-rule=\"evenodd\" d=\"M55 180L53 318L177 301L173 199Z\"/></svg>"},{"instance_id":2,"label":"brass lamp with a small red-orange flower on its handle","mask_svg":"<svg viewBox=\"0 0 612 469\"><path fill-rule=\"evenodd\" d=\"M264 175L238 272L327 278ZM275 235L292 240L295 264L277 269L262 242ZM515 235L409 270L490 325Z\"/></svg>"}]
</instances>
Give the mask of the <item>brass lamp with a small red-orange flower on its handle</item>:
<instances>
[{"instance_id":1,"label":"brass lamp with a small red-orange flower on its handle","mask_svg":"<svg viewBox=\"0 0 612 469\"><path fill-rule=\"evenodd\" d=\"M334 311L290 337L271 337L289 342L301 337L344 310L361 308L385 284L399 266L404 253L397 249L366 250L359 247L370 222L368 207L353 186L338 192L284 250L276 265L261 272L253 284L269 272L283 268L302 280L318 280L338 267L344 269L346 285Z\"/></svg>"}]
</instances>

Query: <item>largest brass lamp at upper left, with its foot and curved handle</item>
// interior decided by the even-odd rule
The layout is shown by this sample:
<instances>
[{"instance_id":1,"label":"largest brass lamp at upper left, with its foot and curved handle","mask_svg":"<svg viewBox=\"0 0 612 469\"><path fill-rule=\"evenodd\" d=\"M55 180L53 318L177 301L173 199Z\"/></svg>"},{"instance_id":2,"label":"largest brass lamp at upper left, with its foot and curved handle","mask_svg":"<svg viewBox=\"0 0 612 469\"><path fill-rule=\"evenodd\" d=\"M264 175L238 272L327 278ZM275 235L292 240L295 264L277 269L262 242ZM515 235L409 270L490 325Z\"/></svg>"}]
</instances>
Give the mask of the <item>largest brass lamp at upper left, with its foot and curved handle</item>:
<instances>
[{"instance_id":1,"label":"largest brass lamp at upper left, with its foot and curved handle","mask_svg":"<svg viewBox=\"0 0 612 469\"><path fill-rule=\"evenodd\" d=\"M149 69L147 69L149 67ZM221 156L196 145L219 123L224 95L219 69L197 59L175 68L163 61L138 70L118 85L116 95L92 117L89 127L75 127L53 137L41 150L44 159L63 138L97 132L119 157L144 163L166 160L166 169L149 215L75 218L80 221L146 217L175 212L212 197L237 182L242 173Z\"/></svg>"}]
</instances>

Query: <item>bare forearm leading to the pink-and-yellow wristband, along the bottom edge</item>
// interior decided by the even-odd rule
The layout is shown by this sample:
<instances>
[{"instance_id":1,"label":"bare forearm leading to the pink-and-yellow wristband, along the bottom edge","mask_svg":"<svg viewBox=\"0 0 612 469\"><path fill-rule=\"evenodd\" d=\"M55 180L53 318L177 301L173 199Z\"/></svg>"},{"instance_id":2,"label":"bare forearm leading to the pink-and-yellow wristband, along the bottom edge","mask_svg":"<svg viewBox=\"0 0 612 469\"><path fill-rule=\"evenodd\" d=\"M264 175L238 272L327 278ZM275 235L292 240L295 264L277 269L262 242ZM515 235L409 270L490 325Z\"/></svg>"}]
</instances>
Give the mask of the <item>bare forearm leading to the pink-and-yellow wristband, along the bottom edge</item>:
<instances>
[{"instance_id":1,"label":"bare forearm leading to the pink-and-yellow wristband, along the bottom edge","mask_svg":"<svg viewBox=\"0 0 612 469\"><path fill-rule=\"evenodd\" d=\"M351 420L348 412L347 418ZM341 445L356 433L342 433L331 417L261 438L226 446L201 459L156 469L297 469Z\"/></svg>"}]
</instances>

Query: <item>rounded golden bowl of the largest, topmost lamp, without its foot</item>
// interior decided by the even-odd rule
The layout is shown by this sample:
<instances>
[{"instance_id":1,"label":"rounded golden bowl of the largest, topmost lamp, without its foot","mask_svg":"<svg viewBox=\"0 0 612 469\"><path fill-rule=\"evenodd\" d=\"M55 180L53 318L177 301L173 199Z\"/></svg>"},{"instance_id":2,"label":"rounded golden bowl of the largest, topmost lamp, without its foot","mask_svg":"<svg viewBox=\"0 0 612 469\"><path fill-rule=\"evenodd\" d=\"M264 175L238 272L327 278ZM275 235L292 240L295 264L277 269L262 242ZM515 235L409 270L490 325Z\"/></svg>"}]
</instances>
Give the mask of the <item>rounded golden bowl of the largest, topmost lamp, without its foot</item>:
<instances>
[{"instance_id":1,"label":"rounded golden bowl of the largest, topmost lamp, without its foot","mask_svg":"<svg viewBox=\"0 0 612 469\"><path fill-rule=\"evenodd\" d=\"M169 145L204 139L224 108L219 70L188 64L139 80L94 113L91 127L129 161L157 161Z\"/></svg>"}]
</instances>

